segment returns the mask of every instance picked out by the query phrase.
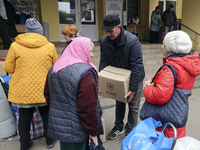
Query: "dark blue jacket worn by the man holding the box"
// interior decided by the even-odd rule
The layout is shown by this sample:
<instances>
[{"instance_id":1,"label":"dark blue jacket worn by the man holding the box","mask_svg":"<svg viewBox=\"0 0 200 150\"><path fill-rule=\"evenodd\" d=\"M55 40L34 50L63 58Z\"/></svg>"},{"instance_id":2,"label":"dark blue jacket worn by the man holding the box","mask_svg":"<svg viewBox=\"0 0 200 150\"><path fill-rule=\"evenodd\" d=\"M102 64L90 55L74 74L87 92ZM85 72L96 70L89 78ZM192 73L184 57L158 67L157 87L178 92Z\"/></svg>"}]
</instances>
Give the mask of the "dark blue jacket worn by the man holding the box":
<instances>
[{"instance_id":1,"label":"dark blue jacket worn by the man holding the box","mask_svg":"<svg viewBox=\"0 0 200 150\"><path fill-rule=\"evenodd\" d=\"M101 38L101 58L99 71L108 65L121 67L121 48L123 47L124 68L131 70L130 91L137 91L138 84L145 77L142 48L139 39L132 33L127 32L124 40L124 29L121 28L118 44L104 35Z\"/></svg>"}]
</instances>

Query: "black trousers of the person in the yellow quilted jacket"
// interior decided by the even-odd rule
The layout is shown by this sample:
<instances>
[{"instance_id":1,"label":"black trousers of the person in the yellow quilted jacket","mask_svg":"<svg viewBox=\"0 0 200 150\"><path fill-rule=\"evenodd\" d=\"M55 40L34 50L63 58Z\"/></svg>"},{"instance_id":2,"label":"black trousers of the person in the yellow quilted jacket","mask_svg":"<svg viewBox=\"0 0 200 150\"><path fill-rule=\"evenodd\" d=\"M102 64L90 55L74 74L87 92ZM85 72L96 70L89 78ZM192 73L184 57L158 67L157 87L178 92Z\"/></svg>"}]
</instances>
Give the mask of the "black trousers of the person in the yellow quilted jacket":
<instances>
[{"instance_id":1,"label":"black trousers of the person in the yellow quilted jacket","mask_svg":"<svg viewBox=\"0 0 200 150\"><path fill-rule=\"evenodd\" d=\"M28 149L30 144L30 123L33 118L33 111L35 107L31 108L19 108L19 135L20 135L20 144L21 150ZM44 126L44 137L47 144L51 144L54 140L48 137L48 117L49 117L49 105L38 107L40 115L42 117L42 122Z\"/></svg>"}]
</instances>

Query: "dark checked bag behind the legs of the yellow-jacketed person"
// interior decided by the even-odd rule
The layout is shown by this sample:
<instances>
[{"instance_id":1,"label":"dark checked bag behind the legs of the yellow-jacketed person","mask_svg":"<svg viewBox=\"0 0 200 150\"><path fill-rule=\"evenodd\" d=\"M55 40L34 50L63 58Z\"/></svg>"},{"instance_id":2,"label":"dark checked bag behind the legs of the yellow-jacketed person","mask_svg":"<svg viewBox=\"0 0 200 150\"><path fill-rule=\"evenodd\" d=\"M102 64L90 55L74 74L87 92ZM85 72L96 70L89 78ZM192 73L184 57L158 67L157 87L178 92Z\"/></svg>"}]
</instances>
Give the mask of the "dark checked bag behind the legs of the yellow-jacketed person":
<instances>
[{"instance_id":1,"label":"dark checked bag behind the legs of the yellow-jacketed person","mask_svg":"<svg viewBox=\"0 0 200 150\"><path fill-rule=\"evenodd\" d=\"M15 113L15 116L16 116L16 123L17 123L17 134L18 134L18 138L20 139L19 130L18 130L19 111ZM30 139L35 139L43 135L44 135L44 128L43 128L42 118L40 116L39 110L36 108L33 112L33 118L30 124Z\"/></svg>"}]
</instances>

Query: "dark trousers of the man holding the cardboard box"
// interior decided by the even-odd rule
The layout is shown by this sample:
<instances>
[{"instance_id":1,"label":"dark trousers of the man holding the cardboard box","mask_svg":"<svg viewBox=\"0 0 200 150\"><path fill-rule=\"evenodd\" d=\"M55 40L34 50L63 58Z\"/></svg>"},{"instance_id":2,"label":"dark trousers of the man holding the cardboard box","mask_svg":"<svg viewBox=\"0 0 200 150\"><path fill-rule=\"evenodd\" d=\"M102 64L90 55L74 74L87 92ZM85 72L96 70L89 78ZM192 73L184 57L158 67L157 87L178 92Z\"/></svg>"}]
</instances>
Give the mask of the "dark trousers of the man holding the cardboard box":
<instances>
[{"instance_id":1,"label":"dark trousers of the man holding the cardboard box","mask_svg":"<svg viewBox=\"0 0 200 150\"><path fill-rule=\"evenodd\" d=\"M128 103L129 112L128 120L125 126L125 134L129 134L131 130L138 123L138 113L140 109L140 100L143 92L143 81L139 83L138 90L135 92L133 99ZM123 130L124 128L124 116L126 112L126 103L116 101L116 111L115 111L115 128Z\"/></svg>"}]
</instances>

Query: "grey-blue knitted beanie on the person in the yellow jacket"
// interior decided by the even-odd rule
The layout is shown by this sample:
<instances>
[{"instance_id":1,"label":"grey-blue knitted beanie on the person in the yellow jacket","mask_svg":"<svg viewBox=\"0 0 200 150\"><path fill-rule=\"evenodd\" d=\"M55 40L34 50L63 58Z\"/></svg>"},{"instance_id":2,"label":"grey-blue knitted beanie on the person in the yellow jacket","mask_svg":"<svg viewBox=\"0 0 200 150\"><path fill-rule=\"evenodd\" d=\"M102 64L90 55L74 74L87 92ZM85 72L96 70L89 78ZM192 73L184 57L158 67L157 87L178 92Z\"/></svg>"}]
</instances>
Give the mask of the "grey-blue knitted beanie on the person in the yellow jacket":
<instances>
[{"instance_id":1,"label":"grey-blue knitted beanie on the person in the yellow jacket","mask_svg":"<svg viewBox=\"0 0 200 150\"><path fill-rule=\"evenodd\" d=\"M43 35L43 28L35 18L27 19L25 26L26 26L26 33L38 33Z\"/></svg>"}]
</instances>

